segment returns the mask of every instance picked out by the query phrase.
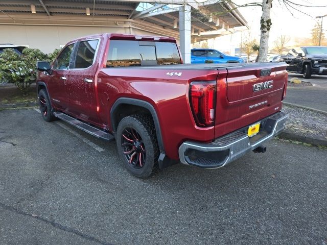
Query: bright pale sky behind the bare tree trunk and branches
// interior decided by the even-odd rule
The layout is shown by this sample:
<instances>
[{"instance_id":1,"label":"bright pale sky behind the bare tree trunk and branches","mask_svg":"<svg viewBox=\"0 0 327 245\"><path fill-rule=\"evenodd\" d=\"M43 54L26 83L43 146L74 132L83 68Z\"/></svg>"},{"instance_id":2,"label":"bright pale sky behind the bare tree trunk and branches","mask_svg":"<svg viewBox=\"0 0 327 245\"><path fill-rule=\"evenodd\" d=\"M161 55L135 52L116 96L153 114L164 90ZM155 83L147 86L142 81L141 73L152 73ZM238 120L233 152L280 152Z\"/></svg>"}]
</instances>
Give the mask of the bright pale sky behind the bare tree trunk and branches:
<instances>
[{"instance_id":1,"label":"bright pale sky behind the bare tree trunk and branches","mask_svg":"<svg viewBox=\"0 0 327 245\"><path fill-rule=\"evenodd\" d=\"M237 4L261 2L261 0L234 0ZM282 0L281 0L282 1ZM311 6L327 6L327 0L291 0L294 3ZM308 8L308 7L296 7L298 10L309 14L310 16L300 13L296 10L292 10L292 14L287 10L284 4L279 5L278 0L273 0L273 7L271 9L271 21L272 26L269 36L269 47L274 47L274 41L280 35L290 37L288 46L295 46L294 40L301 38L311 38L311 30L316 23L316 16L327 14L327 7ZM251 30L252 38L260 41L260 18L262 10L260 7L243 7L239 8L239 11L247 20ZM327 16L324 17L323 30L325 37L327 37ZM243 38L245 38L246 32L243 32ZM233 35L222 36L216 38L214 41L209 41L210 48L216 48L225 53L233 55L233 50L236 47L240 47L241 33L235 33ZM244 39L243 39L244 40Z\"/></svg>"}]
</instances>

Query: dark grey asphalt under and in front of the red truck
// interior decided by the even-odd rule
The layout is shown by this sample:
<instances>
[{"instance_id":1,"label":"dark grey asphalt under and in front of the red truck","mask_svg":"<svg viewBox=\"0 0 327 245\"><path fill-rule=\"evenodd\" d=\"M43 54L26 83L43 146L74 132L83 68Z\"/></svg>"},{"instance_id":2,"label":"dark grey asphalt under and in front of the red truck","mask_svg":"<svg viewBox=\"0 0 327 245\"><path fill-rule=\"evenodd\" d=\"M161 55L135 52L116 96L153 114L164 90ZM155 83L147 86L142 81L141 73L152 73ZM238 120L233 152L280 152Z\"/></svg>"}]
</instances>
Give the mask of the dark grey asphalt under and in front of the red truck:
<instances>
[{"instance_id":1,"label":"dark grey asphalt under and in front of the red truck","mask_svg":"<svg viewBox=\"0 0 327 245\"><path fill-rule=\"evenodd\" d=\"M273 140L141 180L115 143L0 111L1 244L327 244L327 150Z\"/></svg>"}]
</instances>

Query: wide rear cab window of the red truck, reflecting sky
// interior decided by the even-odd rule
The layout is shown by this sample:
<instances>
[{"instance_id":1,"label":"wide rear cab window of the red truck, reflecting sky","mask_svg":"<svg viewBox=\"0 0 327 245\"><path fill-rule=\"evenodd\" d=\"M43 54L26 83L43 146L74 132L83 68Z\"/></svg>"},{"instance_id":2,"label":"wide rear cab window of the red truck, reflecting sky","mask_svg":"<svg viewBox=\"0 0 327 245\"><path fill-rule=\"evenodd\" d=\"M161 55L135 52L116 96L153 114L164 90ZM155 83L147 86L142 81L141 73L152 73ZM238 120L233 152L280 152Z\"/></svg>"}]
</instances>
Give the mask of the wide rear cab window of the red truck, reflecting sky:
<instances>
[{"instance_id":1,"label":"wide rear cab window of the red truck, reflecting sky","mask_svg":"<svg viewBox=\"0 0 327 245\"><path fill-rule=\"evenodd\" d=\"M180 64L176 43L110 40L107 67Z\"/></svg>"}]
</instances>

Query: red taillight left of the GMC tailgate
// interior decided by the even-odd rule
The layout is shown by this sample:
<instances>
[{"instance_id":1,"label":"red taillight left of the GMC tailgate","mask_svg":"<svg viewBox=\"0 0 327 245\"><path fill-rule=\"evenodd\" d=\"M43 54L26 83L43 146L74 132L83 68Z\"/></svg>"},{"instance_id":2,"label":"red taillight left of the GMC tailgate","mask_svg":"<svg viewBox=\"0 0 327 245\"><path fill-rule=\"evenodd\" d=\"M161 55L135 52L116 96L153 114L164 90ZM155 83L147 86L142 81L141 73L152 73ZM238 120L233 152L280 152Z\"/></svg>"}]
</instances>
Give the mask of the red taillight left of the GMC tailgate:
<instances>
[{"instance_id":1,"label":"red taillight left of the GMC tailgate","mask_svg":"<svg viewBox=\"0 0 327 245\"><path fill-rule=\"evenodd\" d=\"M192 82L190 84L191 108L198 126L214 125L216 91L216 81Z\"/></svg>"}]
</instances>

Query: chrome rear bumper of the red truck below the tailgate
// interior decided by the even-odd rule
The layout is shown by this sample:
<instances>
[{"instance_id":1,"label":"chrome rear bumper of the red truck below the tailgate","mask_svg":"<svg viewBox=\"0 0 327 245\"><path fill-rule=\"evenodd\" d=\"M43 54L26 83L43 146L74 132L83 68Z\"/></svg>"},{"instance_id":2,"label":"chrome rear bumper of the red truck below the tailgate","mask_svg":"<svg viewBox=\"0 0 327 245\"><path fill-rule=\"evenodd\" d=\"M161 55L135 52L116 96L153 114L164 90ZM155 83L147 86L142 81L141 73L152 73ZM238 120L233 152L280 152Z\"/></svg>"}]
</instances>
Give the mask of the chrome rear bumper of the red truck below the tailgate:
<instances>
[{"instance_id":1,"label":"chrome rear bumper of the red truck below the tailgate","mask_svg":"<svg viewBox=\"0 0 327 245\"><path fill-rule=\"evenodd\" d=\"M179 159L184 164L198 167L223 167L279 134L284 129L287 117L287 113L278 112L263 118L260 120L260 133L252 138L247 136L248 127L245 127L211 143L185 141L179 147Z\"/></svg>"}]
</instances>

